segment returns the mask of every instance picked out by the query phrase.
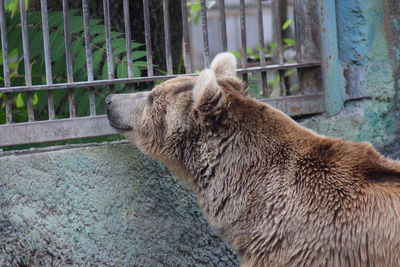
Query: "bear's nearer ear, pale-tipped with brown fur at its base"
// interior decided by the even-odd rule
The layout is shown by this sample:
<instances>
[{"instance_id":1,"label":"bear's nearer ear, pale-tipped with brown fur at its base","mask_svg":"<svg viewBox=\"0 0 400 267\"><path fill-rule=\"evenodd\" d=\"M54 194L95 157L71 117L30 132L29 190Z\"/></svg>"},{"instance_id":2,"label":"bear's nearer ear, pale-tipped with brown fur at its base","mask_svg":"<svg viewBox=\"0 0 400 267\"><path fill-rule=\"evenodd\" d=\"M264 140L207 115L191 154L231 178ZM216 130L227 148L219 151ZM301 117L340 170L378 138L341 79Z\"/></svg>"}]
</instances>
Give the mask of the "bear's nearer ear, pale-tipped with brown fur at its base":
<instances>
[{"instance_id":1,"label":"bear's nearer ear, pale-tipped with brown fur at its base","mask_svg":"<svg viewBox=\"0 0 400 267\"><path fill-rule=\"evenodd\" d=\"M193 88L194 107L200 112L212 112L219 104L222 89L218 85L215 73L210 69L200 72Z\"/></svg>"}]
</instances>

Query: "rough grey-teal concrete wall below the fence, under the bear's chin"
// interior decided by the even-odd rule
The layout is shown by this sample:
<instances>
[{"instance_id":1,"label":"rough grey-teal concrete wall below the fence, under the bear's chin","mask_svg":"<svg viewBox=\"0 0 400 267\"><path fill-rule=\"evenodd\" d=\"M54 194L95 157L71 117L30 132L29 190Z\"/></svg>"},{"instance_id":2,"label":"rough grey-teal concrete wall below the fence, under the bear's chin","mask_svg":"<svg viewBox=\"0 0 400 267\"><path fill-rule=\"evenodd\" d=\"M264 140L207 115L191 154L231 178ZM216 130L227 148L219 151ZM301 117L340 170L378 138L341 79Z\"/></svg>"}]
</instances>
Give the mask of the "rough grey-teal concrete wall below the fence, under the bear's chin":
<instances>
[{"instance_id":1,"label":"rough grey-teal concrete wall below the fence, under the bear's chin","mask_svg":"<svg viewBox=\"0 0 400 267\"><path fill-rule=\"evenodd\" d=\"M194 197L131 145L0 156L0 169L1 266L238 265Z\"/></svg>"}]
</instances>

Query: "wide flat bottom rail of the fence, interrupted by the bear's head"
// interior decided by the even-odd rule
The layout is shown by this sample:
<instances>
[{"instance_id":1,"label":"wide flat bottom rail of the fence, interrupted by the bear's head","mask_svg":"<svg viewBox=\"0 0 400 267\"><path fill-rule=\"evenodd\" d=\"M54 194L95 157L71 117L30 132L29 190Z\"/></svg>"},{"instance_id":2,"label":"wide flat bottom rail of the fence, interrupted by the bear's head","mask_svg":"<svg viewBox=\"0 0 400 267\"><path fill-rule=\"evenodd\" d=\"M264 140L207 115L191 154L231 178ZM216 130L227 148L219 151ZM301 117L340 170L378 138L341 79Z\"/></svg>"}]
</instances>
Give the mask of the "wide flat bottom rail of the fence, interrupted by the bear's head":
<instances>
[{"instance_id":1,"label":"wide flat bottom rail of the fence, interrupted by the bear's head","mask_svg":"<svg viewBox=\"0 0 400 267\"><path fill-rule=\"evenodd\" d=\"M259 99L259 101L276 107L290 116L324 111L322 94ZM115 134L118 132L109 125L105 115L16 123L12 127L3 124L0 125L0 147Z\"/></svg>"}]
</instances>

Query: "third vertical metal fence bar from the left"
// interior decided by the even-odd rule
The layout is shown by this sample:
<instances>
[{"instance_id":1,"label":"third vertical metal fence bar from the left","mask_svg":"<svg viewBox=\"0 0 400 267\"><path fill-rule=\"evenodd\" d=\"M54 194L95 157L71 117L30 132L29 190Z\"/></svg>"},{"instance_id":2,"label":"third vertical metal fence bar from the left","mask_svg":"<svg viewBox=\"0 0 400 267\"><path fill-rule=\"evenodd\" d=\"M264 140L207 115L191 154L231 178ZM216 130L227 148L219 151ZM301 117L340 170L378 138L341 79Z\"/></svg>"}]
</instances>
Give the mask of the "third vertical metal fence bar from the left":
<instances>
[{"instance_id":1,"label":"third vertical metal fence bar from the left","mask_svg":"<svg viewBox=\"0 0 400 267\"><path fill-rule=\"evenodd\" d=\"M42 28L43 28L43 46L44 46L44 62L46 67L46 83L52 84L52 70L51 70L51 54L50 54L50 38L49 38L49 20L47 14L47 0L40 0L40 9L42 14ZM55 119L54 112L54 97L52 91L47 91L47 108L49 112L49 120Z\"/></svg>"}]
</instances>

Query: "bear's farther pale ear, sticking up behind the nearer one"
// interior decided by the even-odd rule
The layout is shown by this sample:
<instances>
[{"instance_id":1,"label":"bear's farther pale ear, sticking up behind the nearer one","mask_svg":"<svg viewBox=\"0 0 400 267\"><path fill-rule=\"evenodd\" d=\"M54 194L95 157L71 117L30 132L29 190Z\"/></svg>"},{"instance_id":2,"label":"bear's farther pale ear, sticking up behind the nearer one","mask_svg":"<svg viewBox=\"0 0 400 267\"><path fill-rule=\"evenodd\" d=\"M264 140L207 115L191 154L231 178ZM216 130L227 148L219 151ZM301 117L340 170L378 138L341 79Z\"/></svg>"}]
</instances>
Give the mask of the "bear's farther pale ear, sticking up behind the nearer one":
<instances>
[{"instance_id":1,"label":"bear's farther pale ear, sticking up behind the nearer one","mask_svg":"<svg viewBox=\"0 0 400 267\"><path fill-rule=\"evenodd\" d=\"M210 69L217 78L236 77L236 57L229 52L219 53L211 62Z\"/></svg>"}]
</instances>

